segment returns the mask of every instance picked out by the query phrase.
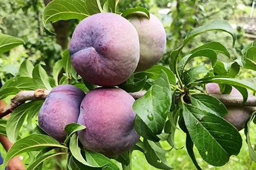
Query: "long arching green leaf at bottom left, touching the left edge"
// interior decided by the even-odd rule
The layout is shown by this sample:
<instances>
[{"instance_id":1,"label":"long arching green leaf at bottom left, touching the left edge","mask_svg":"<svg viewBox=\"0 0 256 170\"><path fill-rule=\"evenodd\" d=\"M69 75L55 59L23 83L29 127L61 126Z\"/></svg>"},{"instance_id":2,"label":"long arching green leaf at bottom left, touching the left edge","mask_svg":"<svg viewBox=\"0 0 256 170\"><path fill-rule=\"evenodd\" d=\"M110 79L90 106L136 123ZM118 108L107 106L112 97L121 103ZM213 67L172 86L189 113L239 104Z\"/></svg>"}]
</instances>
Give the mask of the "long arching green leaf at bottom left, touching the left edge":
<instances>
[{"instance_id":1,"label":"long arching green leaf at bottom left, touching the left edge","mask_svg":"<svg viewBox=\"0 0 256 170\"><path fill-rule=\"evenodd\" d=\"M52 147L67 149L67 147L60 145L56 139L53 139L47 135L31 134L23 139L19 139L13 144L13 146L11 146L1 166L6 167L11 158L24 152L40 151L44 148Z\"/></svg>"}]
</instances>

